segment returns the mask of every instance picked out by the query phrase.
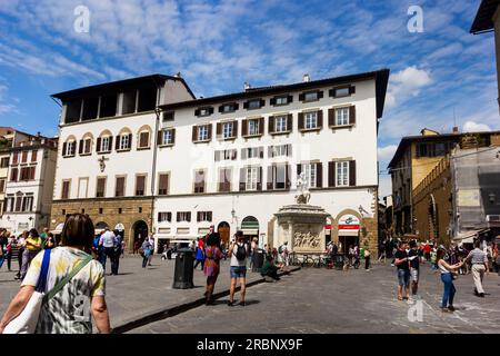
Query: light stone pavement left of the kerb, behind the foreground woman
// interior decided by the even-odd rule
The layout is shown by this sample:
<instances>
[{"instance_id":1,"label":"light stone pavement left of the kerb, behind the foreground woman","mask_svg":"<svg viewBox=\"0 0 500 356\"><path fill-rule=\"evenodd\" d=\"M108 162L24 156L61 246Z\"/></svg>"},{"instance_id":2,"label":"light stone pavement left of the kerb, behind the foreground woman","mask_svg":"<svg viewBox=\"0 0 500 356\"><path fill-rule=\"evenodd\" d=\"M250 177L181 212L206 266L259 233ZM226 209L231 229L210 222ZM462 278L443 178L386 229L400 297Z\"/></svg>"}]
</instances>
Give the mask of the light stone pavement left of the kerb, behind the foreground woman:
<instances>
[{"instance_id":1,"label":"light stone pavement left of the kerb, behind the foreground woman","mask_svg":"<svg viewBox=\"0 0 500 356\"><path fill-rule=\"evenodd\" d=\"M203 297L206 277L200 267L194 271L193 289L173 289L174 260L161 260L153 256L152 266L142 268L142 258L138 255L120 259L118 276L108 276L111 264L107 263L106 300L110 313L111 327L132 322L154 312L197 300ZM17 267L12 264L12 267ZM0 269L0 318L10 300L18 293L20 283L14 280L16 273L7 271L6 264ZM249 273L250 281L261 278L257 273ZM228 289L230 284L229 260L222 261L221 275L216 293Z\"/></svg>"}]
</instances>

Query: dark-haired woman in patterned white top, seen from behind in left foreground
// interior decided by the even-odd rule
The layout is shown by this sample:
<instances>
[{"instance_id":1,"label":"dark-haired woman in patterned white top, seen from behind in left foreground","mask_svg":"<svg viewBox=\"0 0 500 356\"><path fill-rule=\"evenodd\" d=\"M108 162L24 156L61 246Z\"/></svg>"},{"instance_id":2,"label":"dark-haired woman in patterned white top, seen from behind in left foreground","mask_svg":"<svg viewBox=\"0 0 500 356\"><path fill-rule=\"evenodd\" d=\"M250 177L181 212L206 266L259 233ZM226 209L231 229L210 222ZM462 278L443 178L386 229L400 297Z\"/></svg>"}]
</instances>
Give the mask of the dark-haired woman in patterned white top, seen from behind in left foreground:
<instances>
[{"instance_id":1,"label":"dark-haired woman in patterned white top, seen from behind in left foreground","mask_svg":"<svg viewBox=\"0 0 500 356\"><path fill-rule=\"evenodd\" d=\"M83 251L90 248L93 224L88 215L70 215L61 233L61 246L39 254L0 322L0 334L26 307L34 291L42 259L49 257L49 276L44 293L49 299L42 304L37 334L91 334L92 320L101 334L110 332L104 299L104 271L102 266ZM69 279L64 279L70 277ZM49 291L61 288L54 295ZM89 303L84 303L86 299Z\"/></svg>"}]
</instances>

